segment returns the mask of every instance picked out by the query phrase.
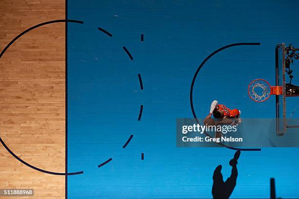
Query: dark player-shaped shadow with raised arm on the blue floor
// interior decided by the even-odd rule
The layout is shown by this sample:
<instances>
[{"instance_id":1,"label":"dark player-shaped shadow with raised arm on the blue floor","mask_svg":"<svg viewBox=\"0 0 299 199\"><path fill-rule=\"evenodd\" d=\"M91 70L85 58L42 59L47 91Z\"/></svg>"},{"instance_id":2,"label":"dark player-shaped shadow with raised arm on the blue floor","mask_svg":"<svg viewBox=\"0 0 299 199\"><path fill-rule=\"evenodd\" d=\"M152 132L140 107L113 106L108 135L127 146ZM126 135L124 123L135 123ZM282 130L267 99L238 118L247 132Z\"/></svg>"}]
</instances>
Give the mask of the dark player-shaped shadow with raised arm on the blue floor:
<instances>
[{"instance_id":1,"label":"dark player-shaped shadow with raised arm on the blue floor","mask_svg":"<svg viewBox=\"0 0 299 199\"><path fill-rule=\"evenodd\" d=\"M221 174L221 165L218 165L214 170L212 187L212 194L214 199L228 199L233 193L238 176L236 164L240 153L240 151L236 151L234 159L230 160L230 165L232 166L232 174L226 181L223 181L223 176Z\"/></svg>"}]
</instances>

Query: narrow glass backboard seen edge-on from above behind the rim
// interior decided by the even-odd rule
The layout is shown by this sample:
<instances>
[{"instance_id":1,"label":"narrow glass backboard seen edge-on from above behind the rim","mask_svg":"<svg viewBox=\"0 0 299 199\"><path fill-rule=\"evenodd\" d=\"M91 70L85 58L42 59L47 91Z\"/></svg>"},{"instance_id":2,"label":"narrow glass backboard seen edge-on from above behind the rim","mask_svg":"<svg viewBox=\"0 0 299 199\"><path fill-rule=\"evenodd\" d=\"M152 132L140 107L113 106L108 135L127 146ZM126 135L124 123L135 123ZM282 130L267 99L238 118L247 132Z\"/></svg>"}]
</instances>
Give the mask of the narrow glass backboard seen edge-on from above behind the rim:
<instances>
[{"instance_id":1,"label":"narrow glass backboard seen edge-on from above behind the rim","mask_svg":"<svg viewBox=\"0 0 299 199\"><path fill-rule=\"evenodd\" d=\"M285 84L285 43L275 47L276 86L282 86L282 95L276 95L276 132L286 133L286 84Z\"/></svg>"}]
</instances>

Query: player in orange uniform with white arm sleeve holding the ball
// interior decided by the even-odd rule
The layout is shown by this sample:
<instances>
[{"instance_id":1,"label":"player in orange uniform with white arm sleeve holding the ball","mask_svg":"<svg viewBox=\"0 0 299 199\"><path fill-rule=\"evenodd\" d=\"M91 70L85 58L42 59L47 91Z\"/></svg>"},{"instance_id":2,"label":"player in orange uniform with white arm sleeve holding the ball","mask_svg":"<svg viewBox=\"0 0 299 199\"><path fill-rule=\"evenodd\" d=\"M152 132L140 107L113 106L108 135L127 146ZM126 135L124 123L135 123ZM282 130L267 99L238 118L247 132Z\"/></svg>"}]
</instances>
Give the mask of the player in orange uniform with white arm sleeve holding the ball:
<instances>
[{"instance_id":1,"label":"player in orange uniform with white arm sleeve holding the ball","mask_svg":"<svg viewBox=\"0 0 299 199\"><path fill-rule=\"evenodd\" d=\"M220 119L216 124L240 124L242 119L240 119L241 111L238 109L229 109L223 104L218 104L217 100L214 100L211 104L210 113L206 118L211 118L213 113L214 118Z\"/></svg>"}]
</instances>

